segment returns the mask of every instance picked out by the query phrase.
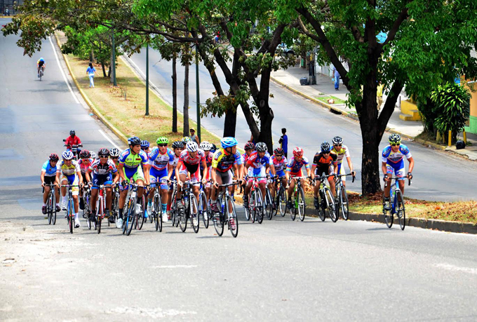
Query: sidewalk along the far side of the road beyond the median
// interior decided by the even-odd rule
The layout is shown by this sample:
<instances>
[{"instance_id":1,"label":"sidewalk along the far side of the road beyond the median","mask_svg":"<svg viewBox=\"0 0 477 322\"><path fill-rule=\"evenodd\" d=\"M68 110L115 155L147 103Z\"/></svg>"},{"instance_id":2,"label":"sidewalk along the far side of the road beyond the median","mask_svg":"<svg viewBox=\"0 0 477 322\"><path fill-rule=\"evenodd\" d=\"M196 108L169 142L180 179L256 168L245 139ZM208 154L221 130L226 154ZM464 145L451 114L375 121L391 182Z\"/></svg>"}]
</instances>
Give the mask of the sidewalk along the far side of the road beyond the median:
<instances>
[{"instance_id":1,"label":"sidewalk along the far side of the road beyond the median","mask_svg":"<svg viewBox=\"0 0 477 322\"><path fill-rule=\"evenodd\" d=\"M352 119L358 120L358 115L356 114L356 109L350 109L344 105L344 102L339 100L347 100L347 88L340 84L340 90L335 90L335 83L330 79L330 77L323 74L316 74L316 85L300 85L300 78L308 78L308 70L301 67L289 67L286 70L278 69L276 72L271 73L271 80L275 83L288 88L288 90L293 91L294 93L315 102L322 107L330 109L330 111L337 114L343 114L345 116L351 117ZM329 104L327 101L329 98L335 100L335 104ZM384 106L384 102L383 105ZM436 145L432 142L426 142L424 140L415 139L419 133L424 130L421 121L403 121L399 119L399 114L401 114L400 107L396 106L394 109L391 118L387 124L386 130L391 133L398 133L403 137L407 137L410 140L415 140L416 142L422 143L423 145L428 145L436 149L443 149L447 151L452 151L457 154L462 154L468 156L471 160L477 160L477 135L467 133L467 141L471 142L471 146L466 147L465 149L457 150L455 146L452 147L443 147Z\"/></svg>"}]
</instances>

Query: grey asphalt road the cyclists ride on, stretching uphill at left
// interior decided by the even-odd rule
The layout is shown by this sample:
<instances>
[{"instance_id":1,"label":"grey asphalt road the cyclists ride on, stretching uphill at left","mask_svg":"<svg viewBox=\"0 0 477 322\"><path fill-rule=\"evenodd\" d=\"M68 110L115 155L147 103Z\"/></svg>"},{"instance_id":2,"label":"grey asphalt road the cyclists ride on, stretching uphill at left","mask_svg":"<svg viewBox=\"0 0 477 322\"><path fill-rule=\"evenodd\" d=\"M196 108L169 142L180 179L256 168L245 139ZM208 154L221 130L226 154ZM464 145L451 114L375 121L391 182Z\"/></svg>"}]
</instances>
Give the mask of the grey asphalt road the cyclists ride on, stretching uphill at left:
<instances>
[{"instance_id":1,"label":"grey asphalt road the cyclists ride on, stretching uphill at left","mask_svg":"<svg viewBox=\"0 0 477 322\"><path fill-rule=\"evenodd\" d=\"M476 321L473 235L311 217L251 224L242 212L236 239L170 222L130 236L83 220L69 234L62 215L49 226L39 187L48 154L71 128L90 149L111 143L49 41L27 58L16 40L0 37L0 321Z\"/></svg>"}]
</instances>

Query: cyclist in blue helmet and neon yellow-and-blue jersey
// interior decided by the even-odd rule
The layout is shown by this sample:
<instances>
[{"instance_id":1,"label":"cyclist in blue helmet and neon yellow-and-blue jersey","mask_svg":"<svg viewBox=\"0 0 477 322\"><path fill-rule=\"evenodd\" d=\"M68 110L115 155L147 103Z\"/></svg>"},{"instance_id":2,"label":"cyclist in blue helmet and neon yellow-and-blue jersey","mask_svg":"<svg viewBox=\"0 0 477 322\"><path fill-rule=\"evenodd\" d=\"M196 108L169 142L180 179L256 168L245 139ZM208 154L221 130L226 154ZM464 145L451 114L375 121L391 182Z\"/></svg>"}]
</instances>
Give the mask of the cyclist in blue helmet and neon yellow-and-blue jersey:
<instances>
[{"instance_id":1,"label":"cyclist in blue helmet and neon yellow-and-blue jersey","mask_svg":"<svg viewBox=\"0 0 477 322\"><path fill-rule=\"evenodd\" d=\"M123 222L123 208L126 203L126 194L128 193L128 183L130 180L141 186L137 188L137 207L136 214L142 213L141 201L142 194L144 193L144 185L149 185L149 172L142 172L142 167L147 163L147 154L141 149L141 140L139 137L134 136L128 139L129 148L125 149L118 160L118 172L121 177L121 185L123 191L119 195L119 219L116 223L118 227L121 227Z\"/></svg>"}]
</instances>

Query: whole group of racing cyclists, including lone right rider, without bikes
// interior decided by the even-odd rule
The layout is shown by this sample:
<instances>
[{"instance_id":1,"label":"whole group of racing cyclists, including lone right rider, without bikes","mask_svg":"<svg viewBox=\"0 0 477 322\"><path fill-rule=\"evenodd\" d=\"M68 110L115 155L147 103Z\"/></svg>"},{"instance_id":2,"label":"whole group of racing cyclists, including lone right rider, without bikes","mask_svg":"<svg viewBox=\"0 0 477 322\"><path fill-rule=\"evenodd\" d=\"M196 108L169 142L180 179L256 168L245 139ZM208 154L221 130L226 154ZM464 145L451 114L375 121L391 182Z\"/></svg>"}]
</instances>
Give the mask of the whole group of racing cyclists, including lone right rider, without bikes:
<instances>
[{"instance_id":1,"label":"whole group of racing cyclists, including lone right rider, without bikes","mask_svg":"<svg viewBox=\"0 0 477 322\"><path fill-rule=\"evenodd\" d=\"M72 195L74 199L75 226L79 227L78 209L83 208L78 196L83 193L82 187L88 185L91 187L91 210L95 213L95 203L98 199L98 187L104 185L106 189L106 210L105 215L109 217L112 207L111 187L119 186L119 220L118 227L121 227L123 218L123 208L126 201L126 195L130 182L133 181L137 189L137 200L139 205L136 208L137 213L142 212L141 200L143 194L147 193L147 212L151 213L152 197L154 189L160 189L162 220L166 222L169 216L171 203L175 202L177 210L184 211L184 205L181 202L182 187L184 182L189 180L192 185L192 191L196 198L199 198L199 182L202 183L206 197L210 200L210 209L217 213L217 192L220 185L231 184L234 177L245 187L243 196L244 207L248 206L248 194L254 180L258 180L259 188L262 190L262 196L265 195L265 189L269 185L271 195L274 199L276 194L275 185L270 185L273 180L281 182L282 185L288 185L287 207L291 208L291 196L295 186L295 177L299 177L304 183L302 168L306 171L306 177L314 181L321 175L331 175L328 182L331 192L335 195L336 175L344 174L343 161L346 158L350 172L355 175L353 163L349 149L343 145L343 139L340 136L332 138L332 145L328 142L321 144L321 149L313 158L313 162L304 156L303 149L295 147L293 157L287 160L283 149L278 147L273 155L267 151L267 145L264 142L247 142L244 146L245 153L240 154L237 151L238 142L234 137L224 137L220 140L220 148L203 141L200 145L190 137L184 137L180 141L175 141L169 147L167 137L159 137L156 140L156 147L150 147L149 142L140 140L139 137L130 137L128 139L128 149L120 152L119 149L102 148L98 151L98 158L94 152L83 149L79 152L78 160L74 160L74 154L71 151L72 145L81 145L81 140L74 137L72 131L67 139L67 150L62 153L62 160L59 161L57 154L51 154L48 161L43 164L41 171L41 182L45 188L43 194L43 214L46 213L46 199L51 185L56 185L61 190L62 209L66 208L65 196L67 185L72 185ZM65 140L66 141L66 140ZM404 176L403 157L410 161L408 177L412 177L411 172L414 161L410 155L408 147L401 145L401 137L393 134L389 136L389 146L382 152L382 170L384 180L389 180L391 173L395 172L397 176ZM58 163L59 161L59 163ZM334 177L332 175L335 175ZM254 179L255 178L255 179ZM345 185L345 178L342 177ZM245 179L245 180L244 180ZM268 180L271 179L271 180ZM177 194L175 201L171 200L172 189L170 189L171 180L177 182ZM400 182L401 185L401 182ZM389 185L388 185L389 187ZM403 184L401 189L403 190ZM234 189L229 187L230 192ZM314 187L314 206L318 206L319 185ZM389 189L385 189L385 202L389 206ZM56 210L60 211L59 192L55 191ZM276 207L276 204L272 205Z\"/></svg>"}]
</instances>

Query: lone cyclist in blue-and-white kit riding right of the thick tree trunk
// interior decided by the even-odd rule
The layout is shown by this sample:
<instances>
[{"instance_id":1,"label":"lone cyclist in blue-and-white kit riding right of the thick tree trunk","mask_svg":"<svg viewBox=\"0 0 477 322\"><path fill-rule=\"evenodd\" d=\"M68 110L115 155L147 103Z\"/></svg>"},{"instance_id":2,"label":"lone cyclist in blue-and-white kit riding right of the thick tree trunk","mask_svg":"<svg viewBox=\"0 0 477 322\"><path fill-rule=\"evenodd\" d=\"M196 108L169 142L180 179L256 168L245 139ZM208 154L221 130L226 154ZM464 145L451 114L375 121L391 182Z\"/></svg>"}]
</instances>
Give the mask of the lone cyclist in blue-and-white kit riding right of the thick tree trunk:
<instances>
[{"instance_id":1,"label":"lone cyclist in blue-and-white kit riding right of the thick tree trunk","mask_svg":"<svg viewBox=\"0 0 477 322\"><path fill-rule=\"evenodd\" d=\"M392 177L393 172L396 177L404 177L405 166L404 157L409 161L408 179L412 179L412 169L414 168L414 159L412 159L411 152L408 147L401 145L401 135L389 135L389 145L382 150L382 172L384 173L384 182L388 182ZM399 180L399 189L404 194L404 180ZM391 210L389 201L389 194L391 192L391 185L384 187L384 209Z\"/></svg>"}]
</instances>

